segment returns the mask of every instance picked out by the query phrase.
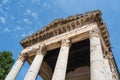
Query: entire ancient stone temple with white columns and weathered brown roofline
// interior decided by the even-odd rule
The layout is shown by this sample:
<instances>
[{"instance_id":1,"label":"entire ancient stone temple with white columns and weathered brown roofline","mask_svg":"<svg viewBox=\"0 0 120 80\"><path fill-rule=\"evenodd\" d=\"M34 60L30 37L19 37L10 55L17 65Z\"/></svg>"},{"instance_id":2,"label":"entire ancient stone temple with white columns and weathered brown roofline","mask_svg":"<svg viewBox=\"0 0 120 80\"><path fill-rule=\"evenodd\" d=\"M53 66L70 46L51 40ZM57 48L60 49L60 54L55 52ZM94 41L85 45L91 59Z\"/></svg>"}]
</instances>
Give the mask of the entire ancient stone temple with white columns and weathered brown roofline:
<instances>
[{"instance_id":1,"label":"entire ancient stone temple with white columns and weathered brown roofline","mask_svg":"<svg viewBox=\"0 0 120 80\"><path fill-rule=\"evenodd\" d=\"M99 10L56 19L21 42L23 50L5 80L119 80L109 33Z\"/></svg>"}]
</instances>

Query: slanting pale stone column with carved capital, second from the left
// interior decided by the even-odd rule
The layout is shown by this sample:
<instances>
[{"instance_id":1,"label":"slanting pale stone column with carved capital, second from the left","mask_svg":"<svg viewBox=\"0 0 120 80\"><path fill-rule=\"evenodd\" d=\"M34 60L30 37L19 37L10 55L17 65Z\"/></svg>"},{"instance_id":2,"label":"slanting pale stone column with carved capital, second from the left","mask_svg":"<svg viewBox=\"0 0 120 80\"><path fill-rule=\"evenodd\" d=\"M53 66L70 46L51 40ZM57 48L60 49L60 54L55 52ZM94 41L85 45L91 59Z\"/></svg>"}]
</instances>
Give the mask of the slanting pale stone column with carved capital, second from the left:
<instances>
[{"instance_id":1,"label":"slanting pale stone column with carved capital, second from the left","mask_svg":"<svg viewBox=\"0 0 120 80\"><path fill-rule=\"evenodd\" d=\"M43 47L40 47L37 50L37 54L31 64L24 80L35 80L36 79L45 53L46 53L46 50Z\"/></svg>"}]
</instances>

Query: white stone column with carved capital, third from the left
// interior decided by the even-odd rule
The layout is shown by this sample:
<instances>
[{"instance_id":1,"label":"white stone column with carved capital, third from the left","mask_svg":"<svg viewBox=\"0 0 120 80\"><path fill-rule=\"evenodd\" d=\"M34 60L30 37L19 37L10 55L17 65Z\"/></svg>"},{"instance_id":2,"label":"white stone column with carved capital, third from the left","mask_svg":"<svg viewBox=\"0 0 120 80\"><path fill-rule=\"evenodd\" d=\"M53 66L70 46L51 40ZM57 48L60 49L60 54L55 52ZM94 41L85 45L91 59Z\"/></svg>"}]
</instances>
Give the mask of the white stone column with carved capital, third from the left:
<instances>
[{"instance_id":1,"label":"white stone column with carved capital, third from the left","mask_svg":"<svg viewBox=\"0 0 120 80\"><path fill-rule=\"evenodd\" d=\"M52 80L65 80L69 49L70 40L62 40L61 49L58 55Z\"/></svg>"}]
</instances>

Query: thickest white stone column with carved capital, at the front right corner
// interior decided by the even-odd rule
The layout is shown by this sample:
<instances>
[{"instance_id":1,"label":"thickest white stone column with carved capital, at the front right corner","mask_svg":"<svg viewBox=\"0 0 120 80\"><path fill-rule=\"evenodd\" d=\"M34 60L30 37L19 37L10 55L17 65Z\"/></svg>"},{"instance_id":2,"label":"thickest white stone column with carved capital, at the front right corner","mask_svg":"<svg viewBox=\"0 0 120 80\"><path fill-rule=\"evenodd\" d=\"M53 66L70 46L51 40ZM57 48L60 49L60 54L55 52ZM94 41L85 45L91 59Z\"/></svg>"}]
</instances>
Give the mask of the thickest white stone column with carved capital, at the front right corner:
<instances>
[{"instance_id":1,"label":"thickest white stone column with carved capital, at the front right corner","mask_svg":"<svg viewBox=\"0 0 120 80\"><path fill-rule=\"evenodd\" d=\"M98 29L89 32L90 36L90 80L106 80L103 52Z\"/></svg>"}]
</instances>

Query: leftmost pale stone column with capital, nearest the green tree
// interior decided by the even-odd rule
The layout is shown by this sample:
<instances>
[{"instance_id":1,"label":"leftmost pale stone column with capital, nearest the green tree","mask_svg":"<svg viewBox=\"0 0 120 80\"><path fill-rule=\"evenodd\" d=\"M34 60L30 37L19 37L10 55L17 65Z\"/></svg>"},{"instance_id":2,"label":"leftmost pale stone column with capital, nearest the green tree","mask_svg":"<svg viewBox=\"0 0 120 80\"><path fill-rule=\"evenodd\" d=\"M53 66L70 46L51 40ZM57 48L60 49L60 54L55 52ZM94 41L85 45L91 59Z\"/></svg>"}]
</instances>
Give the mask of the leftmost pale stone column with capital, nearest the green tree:
<instances>
[{"instance_id":1,"label":"leftmost pale stone column with capital, nearest the green tree","mask_svg":"<svg viewBox=\"0 0 120 80\"><path fill-rule=\"evenodd\" d=\"M12 67L10 72L8 73L8 75L5 78L5 80L15 80L15 78L18 75L18 72L20 71L24 61L25 61L25 56L20 55L18 57L18 60L15 62L14 66Z\"/></svg>"}]
</instances>

